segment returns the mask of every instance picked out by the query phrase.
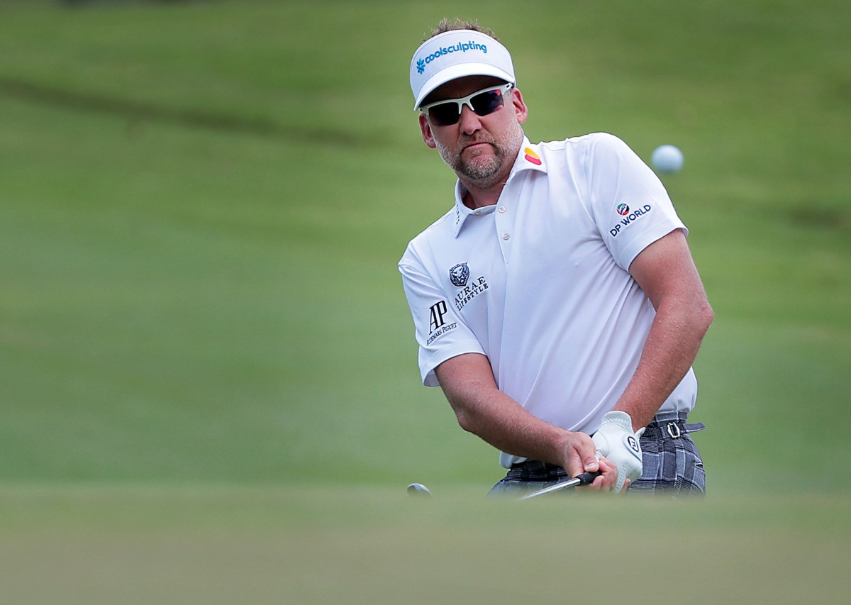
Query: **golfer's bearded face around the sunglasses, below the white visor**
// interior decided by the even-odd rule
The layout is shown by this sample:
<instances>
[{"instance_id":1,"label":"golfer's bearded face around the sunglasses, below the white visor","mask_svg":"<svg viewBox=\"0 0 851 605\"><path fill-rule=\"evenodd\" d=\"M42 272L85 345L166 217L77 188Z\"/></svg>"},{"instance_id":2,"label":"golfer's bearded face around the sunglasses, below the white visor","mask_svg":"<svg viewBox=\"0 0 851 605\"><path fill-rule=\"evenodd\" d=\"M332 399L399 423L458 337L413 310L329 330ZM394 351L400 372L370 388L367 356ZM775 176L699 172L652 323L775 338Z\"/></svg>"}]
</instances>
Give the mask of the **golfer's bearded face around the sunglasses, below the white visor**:
<instances>
[{"instance_id":1,"label":"golfer's bearded face around the sunglasses, below the white visor","mask_svg":"<svg viewBox=\"0 0 851 605\"><path fill-rule=\"evenodd\" d=\"M502 83L494 77L462 77L436 88L423 105L459 99ZM523 96L512 88L505 94L505 105L487 116L478 116L470 107L463 106L458 123L438 126L420 114L420 129L426 145L437 148L462 182L487 189L508 178L523 143L520 125L526 116Z\"/></svg>"}]
</instances>

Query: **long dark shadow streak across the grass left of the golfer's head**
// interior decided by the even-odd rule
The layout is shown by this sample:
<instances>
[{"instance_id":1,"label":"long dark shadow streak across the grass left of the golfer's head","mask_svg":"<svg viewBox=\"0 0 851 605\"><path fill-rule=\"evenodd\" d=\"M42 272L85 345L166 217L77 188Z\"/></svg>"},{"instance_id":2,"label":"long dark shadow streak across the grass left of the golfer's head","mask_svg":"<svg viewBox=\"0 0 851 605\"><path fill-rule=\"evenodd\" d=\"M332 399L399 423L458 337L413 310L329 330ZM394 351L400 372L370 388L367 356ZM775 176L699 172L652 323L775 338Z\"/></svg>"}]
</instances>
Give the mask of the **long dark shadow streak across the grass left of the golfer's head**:
<instances>
[{"instance_id":1,"label":"long dark shadow streak across the grass left of the golfer's head","mask_svg":"<svg viewBox=\"0 0 851 605\"><path fill-rule=\"evenodd\" d=\"M130 123L171 123L189 128L204 128L221 133L252 134L288 141L310 140L312 143L334 146L363 147L372 143L366 137L311 128L283 126L264 118L248 118L178 107L157 106L142 101L116 99L53 88L43 84L0 77L0 94L18 100L61 107L72 111L127 117Z\"/></svg>"}]
</instances>

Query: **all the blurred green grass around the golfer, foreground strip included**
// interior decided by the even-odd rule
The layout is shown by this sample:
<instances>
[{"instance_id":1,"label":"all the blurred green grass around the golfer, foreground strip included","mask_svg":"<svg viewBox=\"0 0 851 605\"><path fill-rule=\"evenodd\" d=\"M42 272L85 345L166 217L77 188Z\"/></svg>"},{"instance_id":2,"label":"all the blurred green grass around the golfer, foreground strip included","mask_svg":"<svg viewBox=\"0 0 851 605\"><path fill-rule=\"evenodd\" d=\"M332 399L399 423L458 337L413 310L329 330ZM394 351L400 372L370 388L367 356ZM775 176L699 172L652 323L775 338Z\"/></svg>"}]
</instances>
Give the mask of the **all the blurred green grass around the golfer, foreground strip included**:
<instances>
[{"instance_id":1,"label":"all the blurred green grass around the golfer, foreground strip included","mask_svg":"<svg viewBox=\"0 0 851 605\"><path fill-rule=\"evenodd\" d=\"M407 70L456 15L511 48L532 140L683 150L705 502L488 503L494 450L420 385L396 262L454 179ZM667 575L663 602L848 602L849 17L0 2L9 602L641 601Z\"/></svg>"}]
</instances>

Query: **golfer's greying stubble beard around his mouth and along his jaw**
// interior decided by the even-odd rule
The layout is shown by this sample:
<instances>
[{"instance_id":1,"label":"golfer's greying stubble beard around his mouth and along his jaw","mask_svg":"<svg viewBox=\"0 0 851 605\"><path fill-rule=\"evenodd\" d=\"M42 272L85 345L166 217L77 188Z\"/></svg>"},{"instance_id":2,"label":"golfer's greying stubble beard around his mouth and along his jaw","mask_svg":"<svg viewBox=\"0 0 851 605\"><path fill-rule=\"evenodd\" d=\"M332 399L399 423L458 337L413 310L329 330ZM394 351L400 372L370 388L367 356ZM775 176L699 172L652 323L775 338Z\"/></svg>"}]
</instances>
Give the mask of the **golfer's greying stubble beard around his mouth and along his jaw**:
<instances>
[{"instance_id":1,"label":"golfer's greying stubble beard around his mouth and along his jaw","mask_svg":"<svg viewBox=\"0 0 851 605\"><path fill-rule=\"evenodd\" d=\"M473 143L487 143L494 153L475 153L473 157L465 160L464 149ZM508 178L522 143L523 128L519 123L514 123L510 130L499 137L491 137L488 134L465 137L459 140L458 146L454 148L437 143L437 151L440 157L443 157L443 162L458 174L461 181L480 189L488 189Z\"/></svg>"}]
</instances>

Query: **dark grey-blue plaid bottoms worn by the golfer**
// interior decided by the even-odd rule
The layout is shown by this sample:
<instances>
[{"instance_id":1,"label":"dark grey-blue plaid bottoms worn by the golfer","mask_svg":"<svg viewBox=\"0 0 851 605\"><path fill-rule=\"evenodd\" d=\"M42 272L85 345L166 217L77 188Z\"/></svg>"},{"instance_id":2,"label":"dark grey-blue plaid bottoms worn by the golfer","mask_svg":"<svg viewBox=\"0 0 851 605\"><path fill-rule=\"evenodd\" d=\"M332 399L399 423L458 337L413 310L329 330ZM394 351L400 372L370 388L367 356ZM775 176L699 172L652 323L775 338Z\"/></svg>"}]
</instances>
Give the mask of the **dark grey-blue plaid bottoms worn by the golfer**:
<instances>
[{"instance_id":1,"label":"dark grey-blue plaid bottoms worn by the golfer","mask_svg":"<svg viewBox=\"0 0 851 605\"><path fill-rule=\"evenodd\" d=\"M706 473L703 459L689 433L705 428L702 422L686 423L681 412L656 414L641 437L642 476L627 488L629 494L699 495L705 494ZM561 466L540 460L512 465L494 485L490 494L523 494L545 488L568 478ZM567 489L559 494L569 494ZM549 495L549 494L548 494Z\"/></svg>"}]
</instances>

